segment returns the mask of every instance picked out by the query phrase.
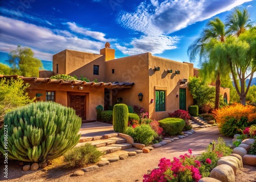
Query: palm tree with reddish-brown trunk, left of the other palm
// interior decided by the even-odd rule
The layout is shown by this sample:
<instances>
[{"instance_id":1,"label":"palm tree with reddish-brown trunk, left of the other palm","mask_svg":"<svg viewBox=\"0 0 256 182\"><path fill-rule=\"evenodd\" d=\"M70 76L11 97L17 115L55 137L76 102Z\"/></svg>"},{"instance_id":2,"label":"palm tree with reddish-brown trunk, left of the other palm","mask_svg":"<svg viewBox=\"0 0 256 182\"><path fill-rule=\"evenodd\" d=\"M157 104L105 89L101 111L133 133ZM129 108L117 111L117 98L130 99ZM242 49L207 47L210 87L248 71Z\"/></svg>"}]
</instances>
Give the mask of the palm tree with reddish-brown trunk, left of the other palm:
<instances>
[{"instance_id":1,"label":"palm tree with reddish-brown trunk, left of the other palm","mask_svg":"<svg viewBox=\"0 0 256 182\"><path fill-rule=\"evenodd\" d=\"M219 43L225 42L226 35L225 24L220 20L220 18L216 17L207 22L205 29L201 33L201 37L187 49L190 62L195 61L196 56L199 55L199 62L202 65L201 71L205 73L203 75L210 75L212 72L216 73L215 109L219 109L221 70L223 70L226 63L220 58L216 59L216 56L210 55L211 46L209 46L209 44L213 45L212 43L214 43L214 40ZM212 57L212 59L210 59L210 57Z\"/></svg>"}]
</instances>

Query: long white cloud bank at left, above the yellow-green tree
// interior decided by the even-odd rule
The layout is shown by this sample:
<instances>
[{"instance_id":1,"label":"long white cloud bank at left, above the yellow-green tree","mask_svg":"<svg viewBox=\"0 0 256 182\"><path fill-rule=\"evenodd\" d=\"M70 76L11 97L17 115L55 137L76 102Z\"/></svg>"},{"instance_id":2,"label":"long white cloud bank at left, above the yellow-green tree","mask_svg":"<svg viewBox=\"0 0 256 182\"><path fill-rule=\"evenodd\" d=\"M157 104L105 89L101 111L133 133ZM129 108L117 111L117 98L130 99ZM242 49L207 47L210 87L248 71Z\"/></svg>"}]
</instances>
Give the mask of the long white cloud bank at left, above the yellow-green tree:
<instances>
[{"instance_id":1,"label":"long white cloud bank at left, above the yellow-green tree","mask_svg":"<svg viewBox=\"0 0 256 182\"><path fill-rule=\"evenodd\" d=\"M103 42L81 39L68 31L50 30L4 16L0 16L0 37L0 51L9 53L10 48L20 44L31 47L42 60L52 60L52 55L63 49L99 54L104 47Z\"/></svg>"}]
</instances>

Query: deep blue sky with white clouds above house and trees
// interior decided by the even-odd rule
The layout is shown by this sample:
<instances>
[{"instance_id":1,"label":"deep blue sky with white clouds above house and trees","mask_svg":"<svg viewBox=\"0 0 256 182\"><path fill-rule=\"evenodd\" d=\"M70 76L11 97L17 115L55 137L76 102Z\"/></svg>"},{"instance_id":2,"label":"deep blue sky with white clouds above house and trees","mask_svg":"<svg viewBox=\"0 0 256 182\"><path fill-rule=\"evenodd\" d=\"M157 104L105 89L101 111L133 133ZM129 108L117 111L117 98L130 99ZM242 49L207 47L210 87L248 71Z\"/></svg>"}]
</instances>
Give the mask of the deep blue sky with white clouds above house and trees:
<instances>
[{"instance_id":1,"label":"deep blue sky with white clouds above house and trees","mask_svg":"<svg viewBox=\"0 0 256 182\"><path fill-rule=\"evenodd\" d=\"M107 41L116 58L150 52L189 62L187 47L208 19L225 21L232 8L243 6L256 20L256 0L2 0L0 5L0 62L18 44L52 61L64 49L99 54Z\"/></svg>"}]
</instances>

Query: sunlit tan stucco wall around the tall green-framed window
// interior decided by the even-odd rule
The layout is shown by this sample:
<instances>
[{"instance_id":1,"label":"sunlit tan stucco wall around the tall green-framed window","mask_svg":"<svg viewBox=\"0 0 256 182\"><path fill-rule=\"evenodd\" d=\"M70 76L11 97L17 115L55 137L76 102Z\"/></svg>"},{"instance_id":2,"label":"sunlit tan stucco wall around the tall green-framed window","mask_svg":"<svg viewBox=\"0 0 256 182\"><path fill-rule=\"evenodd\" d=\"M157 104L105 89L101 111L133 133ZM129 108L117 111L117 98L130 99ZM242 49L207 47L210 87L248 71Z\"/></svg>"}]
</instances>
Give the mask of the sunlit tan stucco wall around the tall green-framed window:
<instances>
[{"instance_id":1,"label":"sunlit tan stucco wall around the tall green-framed window","mask_svg":"<svg viewBox=\"0 0 256 182\"><path fill-rule=\"evenodd\" d=\"M150 89L148 103L150 103L150 118L163 119L168 117L168 112L179 110L179 97L176 97L180 88L186 88L186 110L188 106L193 104L193 97L189 94L187 84L180 85L181 79L189 78L189 75L194 74L193 64L180 63L164 58L151 56L149 59L149 77L150 77ZM154 68L160 67L160 71L155 71ZM173 69L173 73L168 73L167 69ZM175 74L175 70L179 70L180 74ZM166 90L166 106L164 112L155 111L155 95L156 90ZM154 99L154 103L151 103L151 99Z\"/></svg>"}]
</instances>

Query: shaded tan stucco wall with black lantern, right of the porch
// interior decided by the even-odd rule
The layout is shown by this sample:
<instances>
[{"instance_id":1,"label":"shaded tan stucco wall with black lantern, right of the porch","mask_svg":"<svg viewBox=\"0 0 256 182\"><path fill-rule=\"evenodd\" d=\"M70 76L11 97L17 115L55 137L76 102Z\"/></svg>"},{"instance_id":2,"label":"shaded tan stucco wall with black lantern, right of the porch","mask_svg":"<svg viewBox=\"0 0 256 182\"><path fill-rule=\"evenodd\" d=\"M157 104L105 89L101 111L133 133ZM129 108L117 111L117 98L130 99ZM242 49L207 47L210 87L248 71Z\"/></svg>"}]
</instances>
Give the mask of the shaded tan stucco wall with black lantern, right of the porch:
<instances>
[{"instance_id":1,"label":"shaded tan stucco wall with black lantern, right of the porch","mask_svg":"<svg viewBox=\"0 0 256 182\"><path fill-rule=\"evenodd\" d=\"M148 55L145 53L136 56L129 56L106 62L106 79L108 82L130 82L135 85L130 89L113 90L113 102L117 97L123 98L123 103L128 106L138 105L148 111ZM115 73L112 73L112 69ZM138 94L143 94L142 101L139 101ZM113 103L112 103L113 104Z\"/></svg>"}]
</instances>

